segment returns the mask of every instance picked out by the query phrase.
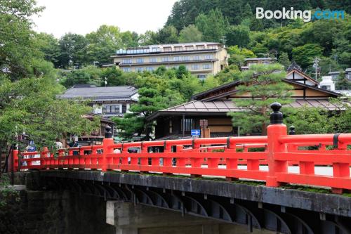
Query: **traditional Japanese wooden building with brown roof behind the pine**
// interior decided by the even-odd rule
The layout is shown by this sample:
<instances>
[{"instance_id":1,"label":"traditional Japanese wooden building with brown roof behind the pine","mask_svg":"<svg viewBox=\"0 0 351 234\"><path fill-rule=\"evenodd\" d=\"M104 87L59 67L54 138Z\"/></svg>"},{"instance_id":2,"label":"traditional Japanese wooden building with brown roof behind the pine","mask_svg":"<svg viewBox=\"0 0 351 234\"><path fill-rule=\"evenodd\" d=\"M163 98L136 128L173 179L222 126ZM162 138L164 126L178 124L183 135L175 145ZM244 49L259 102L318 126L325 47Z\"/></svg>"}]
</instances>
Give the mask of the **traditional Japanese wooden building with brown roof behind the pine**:
<instances>
[{"instance_id":1,"label":"traditional Japanese wooden building with brown roof behind the pine","mask_svg":"<svg viewBox=\"0 0 351 234\"><path fill-rule=\"evenodd\" d=\"M293 103L289 107L300 108L304 105L310 108L325 108L338 110L338 106L329 101L337 98L339 93L318 88L318 82L292 64L284 82L293 86ZM156 122L156 139L176 139L190 137L192 129L200 129L200 119L208 120L211 137L237 136L237 128L232 126L231 117L227 112L241 112L232 99L249 98L249 95L239 94L237 86L241 82L230 82L213 89L197 93L188 103L159 110L147 118L148 122Z\"/></svg>"}]
</instances>

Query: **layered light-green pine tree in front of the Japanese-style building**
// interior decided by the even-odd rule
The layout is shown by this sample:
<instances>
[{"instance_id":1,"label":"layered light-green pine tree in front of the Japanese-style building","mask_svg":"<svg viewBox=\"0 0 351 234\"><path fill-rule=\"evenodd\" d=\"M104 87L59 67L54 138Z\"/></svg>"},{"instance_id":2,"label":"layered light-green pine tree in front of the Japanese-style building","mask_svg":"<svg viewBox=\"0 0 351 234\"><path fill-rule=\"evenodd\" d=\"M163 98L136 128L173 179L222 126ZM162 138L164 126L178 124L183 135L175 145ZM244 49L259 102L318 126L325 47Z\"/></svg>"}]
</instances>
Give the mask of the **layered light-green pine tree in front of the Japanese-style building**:
<instances>
[{"instance_id":1,"label":"layered light-green pine tree in front of the Japanese-style building","mask_svg":"<svg viewBox=\"0 0 351 234\"><path fill-rule=\"evenodd\" d=\"M270 119L270 104L274 102L290 103L291 86L282 79L286 73L279 64L252 65L249 70L242 72L237 86L240 94L248 98L235 98L233 101L243 112L230 112L233 126L240 126L246 133L261 132L266 134L266 126Z\"/></svg>"}]
</instances>

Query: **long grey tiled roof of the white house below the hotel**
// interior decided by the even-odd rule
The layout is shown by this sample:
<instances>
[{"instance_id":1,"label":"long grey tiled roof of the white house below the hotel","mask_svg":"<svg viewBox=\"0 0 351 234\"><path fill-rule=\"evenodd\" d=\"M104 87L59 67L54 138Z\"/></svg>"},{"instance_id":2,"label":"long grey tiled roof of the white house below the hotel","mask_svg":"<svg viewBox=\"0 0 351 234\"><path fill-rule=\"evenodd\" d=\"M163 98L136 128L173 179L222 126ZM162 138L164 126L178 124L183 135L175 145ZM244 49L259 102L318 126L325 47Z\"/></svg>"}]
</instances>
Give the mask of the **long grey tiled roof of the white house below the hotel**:
<instances>
[{"instance_id":1,"label":"long grey tiled roof of the white house below the hotel","mask_svg":"<svg viewBox=\"0 0 351 234\"><path fill-rule=\"evenodd\" d=\"M59 98L94 98L101 100L123 100L131 98L138 89L133 86L84 87L67 89Z\"/></svg>"}]
</instances>

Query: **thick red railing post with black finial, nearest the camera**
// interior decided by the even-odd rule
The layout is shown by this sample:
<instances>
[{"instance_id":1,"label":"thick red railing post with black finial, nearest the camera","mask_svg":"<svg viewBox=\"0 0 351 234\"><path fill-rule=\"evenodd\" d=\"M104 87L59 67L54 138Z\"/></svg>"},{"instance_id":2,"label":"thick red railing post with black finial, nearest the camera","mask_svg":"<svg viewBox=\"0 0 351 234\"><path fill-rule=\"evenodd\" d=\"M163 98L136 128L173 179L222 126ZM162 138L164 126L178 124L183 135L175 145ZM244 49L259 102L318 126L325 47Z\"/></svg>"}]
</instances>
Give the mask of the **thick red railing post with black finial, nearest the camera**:
<instances>
[{"instance_id":1,"label":"thick red railing post with black finial, nearest the camera","mask_svg":"<svg viewBox=\"0 0 351 234\"><path fill-rule=\"evenodd\" d=\"M270 105L273 112L270 115L270 125L267 126L267 142L268 142L268 176L266 186L278 187L281 183L277 181L276 173L286 173L288 164L286 161L275 160L275 154L286 152L286 144L279 143L279 138L286 135L286 125L283 124L283 114L279 112L282 105L280 103L272 103Z\"/></svg>"}]
</instances>

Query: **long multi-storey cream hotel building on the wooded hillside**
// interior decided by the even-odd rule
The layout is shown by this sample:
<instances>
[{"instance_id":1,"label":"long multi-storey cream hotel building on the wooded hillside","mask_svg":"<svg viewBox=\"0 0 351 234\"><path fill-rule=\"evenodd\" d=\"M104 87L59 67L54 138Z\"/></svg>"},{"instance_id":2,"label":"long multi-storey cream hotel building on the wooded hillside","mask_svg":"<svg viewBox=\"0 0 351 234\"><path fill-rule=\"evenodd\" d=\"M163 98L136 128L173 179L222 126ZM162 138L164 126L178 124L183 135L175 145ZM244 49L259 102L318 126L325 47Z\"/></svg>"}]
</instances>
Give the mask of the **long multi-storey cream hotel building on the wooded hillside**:
<instances>
[{"instance_id":1,"label":"long multi-storey cream hotel building on the wooded hillside","mask_svg":"<svg viewBox=\"0 0 351 234\"><path fill-rule=\"evenodd\" d=\"M112 56L124 72L142 72L157 70L164 65L170 69L185 65L187 70L199 77L217 74L228 65L227 50L216 42L196 42L185 44L163 44L119 49Z\"/></svg>"}]
</instances>

